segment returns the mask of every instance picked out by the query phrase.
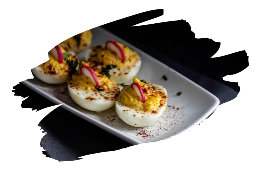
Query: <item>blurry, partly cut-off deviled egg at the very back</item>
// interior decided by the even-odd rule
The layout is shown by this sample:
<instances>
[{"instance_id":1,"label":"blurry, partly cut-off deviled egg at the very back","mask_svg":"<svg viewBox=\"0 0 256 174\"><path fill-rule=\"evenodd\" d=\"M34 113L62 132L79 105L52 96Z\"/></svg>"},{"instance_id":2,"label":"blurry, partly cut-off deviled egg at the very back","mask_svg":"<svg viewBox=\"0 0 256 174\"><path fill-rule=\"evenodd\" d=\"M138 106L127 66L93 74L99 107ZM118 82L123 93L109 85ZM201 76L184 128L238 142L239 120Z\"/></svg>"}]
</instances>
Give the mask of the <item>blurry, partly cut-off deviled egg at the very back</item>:
<instances>
[{"instance_id":1,"label":"blurry, partly cut-off deviled egg at the very back","mask_svg":"<svg viewBox=\"0 0 256 174\"><path fill-rule=\"evenodd\" d=\"M92 37L91 29L87 29L63 40L58 45L78 54L91 45Z\"/></svg>"}]
</instances>

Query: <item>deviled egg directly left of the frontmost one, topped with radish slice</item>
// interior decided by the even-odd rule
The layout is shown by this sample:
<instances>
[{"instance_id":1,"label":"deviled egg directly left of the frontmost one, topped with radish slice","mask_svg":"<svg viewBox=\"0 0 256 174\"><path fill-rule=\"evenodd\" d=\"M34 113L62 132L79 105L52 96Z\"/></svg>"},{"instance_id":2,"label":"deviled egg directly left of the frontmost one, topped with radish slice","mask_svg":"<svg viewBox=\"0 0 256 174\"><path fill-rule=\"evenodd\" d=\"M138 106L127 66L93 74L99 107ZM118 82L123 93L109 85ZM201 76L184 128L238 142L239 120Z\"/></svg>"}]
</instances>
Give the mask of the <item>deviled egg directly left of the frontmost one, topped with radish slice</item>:
<instances>
[{"instance_id":1,"label":"deviled egg directly left of the frontmost one, topped with radish slice","mask_svg":"<svg viewBox=\"0 0 256 174\"><path fill-rule=\"evenodd\" d=\"M115 99L120 93L118 85L113 80L93 71L84 61L69 80L68 91L76 104L95 112L102 112L114 106Z\"/></svg>"}]
</instances>

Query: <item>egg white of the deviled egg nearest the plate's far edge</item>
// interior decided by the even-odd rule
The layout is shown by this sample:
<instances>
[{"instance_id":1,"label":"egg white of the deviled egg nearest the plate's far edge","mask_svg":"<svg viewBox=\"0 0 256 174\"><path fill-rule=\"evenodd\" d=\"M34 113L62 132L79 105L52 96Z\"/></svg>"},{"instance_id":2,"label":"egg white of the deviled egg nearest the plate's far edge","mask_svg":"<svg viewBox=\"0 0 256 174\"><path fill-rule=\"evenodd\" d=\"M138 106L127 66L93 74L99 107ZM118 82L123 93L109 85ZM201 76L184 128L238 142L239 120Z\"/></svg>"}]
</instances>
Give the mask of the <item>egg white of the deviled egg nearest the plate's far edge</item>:
<instances>
[{"instance_id":1,"label":"egg white of the deviled egg nearest the plate's far edge","mask_svg":"<svg viewBox=\"0 0 256 174\"><path fill-rule=\"evenodd\" d=\"M97 57L91 57L91 55L95 55L96 52L94 52L92 49L88 49L85 53L85 61L91 65L91 62L89 61L89 59L91 61L98 61ZM121 68L120 70L118 70L118 68L113 68L109 71L109 74L111 75L111 78L114 82L116 82L117 84L121 84L121 83L126 83L127 81L130 81L133 79L133 77L135 77L138 72L140 71L141 68L141 58L140 56L136 57L137 61L135 62L135 64L133 66L131 66L129 69L127 68ZM100 69L101 67L98 66L98 69Z\"/></svg>"}]
</instances>

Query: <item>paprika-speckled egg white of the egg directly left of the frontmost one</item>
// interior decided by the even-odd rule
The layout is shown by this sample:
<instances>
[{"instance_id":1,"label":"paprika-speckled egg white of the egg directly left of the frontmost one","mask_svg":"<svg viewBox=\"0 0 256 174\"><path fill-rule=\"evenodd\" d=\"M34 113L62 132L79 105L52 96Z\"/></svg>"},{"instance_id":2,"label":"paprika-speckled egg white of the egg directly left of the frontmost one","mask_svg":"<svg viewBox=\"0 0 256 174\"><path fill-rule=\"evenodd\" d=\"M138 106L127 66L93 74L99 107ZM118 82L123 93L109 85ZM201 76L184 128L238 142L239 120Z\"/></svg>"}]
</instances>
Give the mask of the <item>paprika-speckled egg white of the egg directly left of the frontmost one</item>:
<instances>
[{"instance_id":1,"label":"paprika-speckled egg white of the egg directly left of the frontmost one","mask_svg":"<svg viewBox=\"0 0 256 174\"><path fill-rule=\"evenodd\" d=\"M119 87L116 85L116 88ZM88 92L76 89L70 84L68 84L68 92L76 104L89 111L102 112L115 105L115 93Z\"/></svg>"}]
</instances>

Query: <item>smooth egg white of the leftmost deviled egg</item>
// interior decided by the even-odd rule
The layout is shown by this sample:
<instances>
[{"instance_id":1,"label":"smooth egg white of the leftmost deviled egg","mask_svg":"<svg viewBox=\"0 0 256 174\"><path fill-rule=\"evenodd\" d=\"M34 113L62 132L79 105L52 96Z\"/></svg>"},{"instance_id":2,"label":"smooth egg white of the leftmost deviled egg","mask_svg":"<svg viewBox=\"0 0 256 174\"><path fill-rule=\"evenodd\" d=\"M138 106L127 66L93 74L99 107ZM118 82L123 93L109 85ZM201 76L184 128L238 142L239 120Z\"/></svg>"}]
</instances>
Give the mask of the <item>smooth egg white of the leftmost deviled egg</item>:
<instances>
[{"instance_id":1,"label":"smooth egg white of the leftmost deviled egg","mask_svg":"<svg viewBox=\"0 0 256 174\"><path fill-rule=\"evenodd\" d=\"M31 68L33 74L40 79L41 81L48 84L61 84L67 82L69 77L68 73L59 73L59 74L45 74L42 68L38 66L33 66Z\"/></svg>"}]
</instances>

